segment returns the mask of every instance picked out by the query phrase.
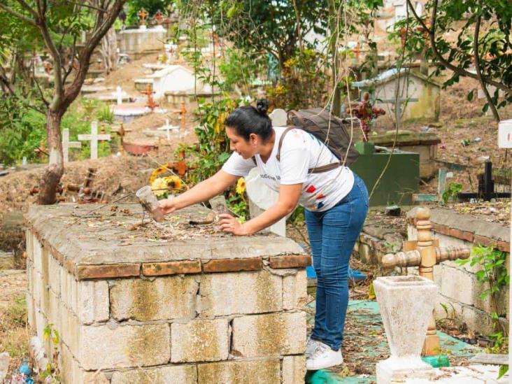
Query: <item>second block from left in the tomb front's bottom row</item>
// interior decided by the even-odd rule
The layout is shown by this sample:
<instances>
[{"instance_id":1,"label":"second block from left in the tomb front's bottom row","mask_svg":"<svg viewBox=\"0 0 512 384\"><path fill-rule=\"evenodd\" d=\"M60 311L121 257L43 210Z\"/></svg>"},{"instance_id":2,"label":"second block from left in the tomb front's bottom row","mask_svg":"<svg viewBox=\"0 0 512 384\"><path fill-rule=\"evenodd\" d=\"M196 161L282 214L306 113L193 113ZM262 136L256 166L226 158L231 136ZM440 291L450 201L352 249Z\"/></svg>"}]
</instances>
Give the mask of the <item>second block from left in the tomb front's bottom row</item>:
<instances>
[{"instance_id":1,"label":"second block from left in the tomb front's bottom row","mask_svg":"<svg viewBox=\"0 0 512 384\"><path fill-rule=\"evenodd\" d=\"M131 369L114 372L111 384L164 384L197 383L197 369L194 365L177 365L155 369Z\"/></svg>"}]
</instances>

